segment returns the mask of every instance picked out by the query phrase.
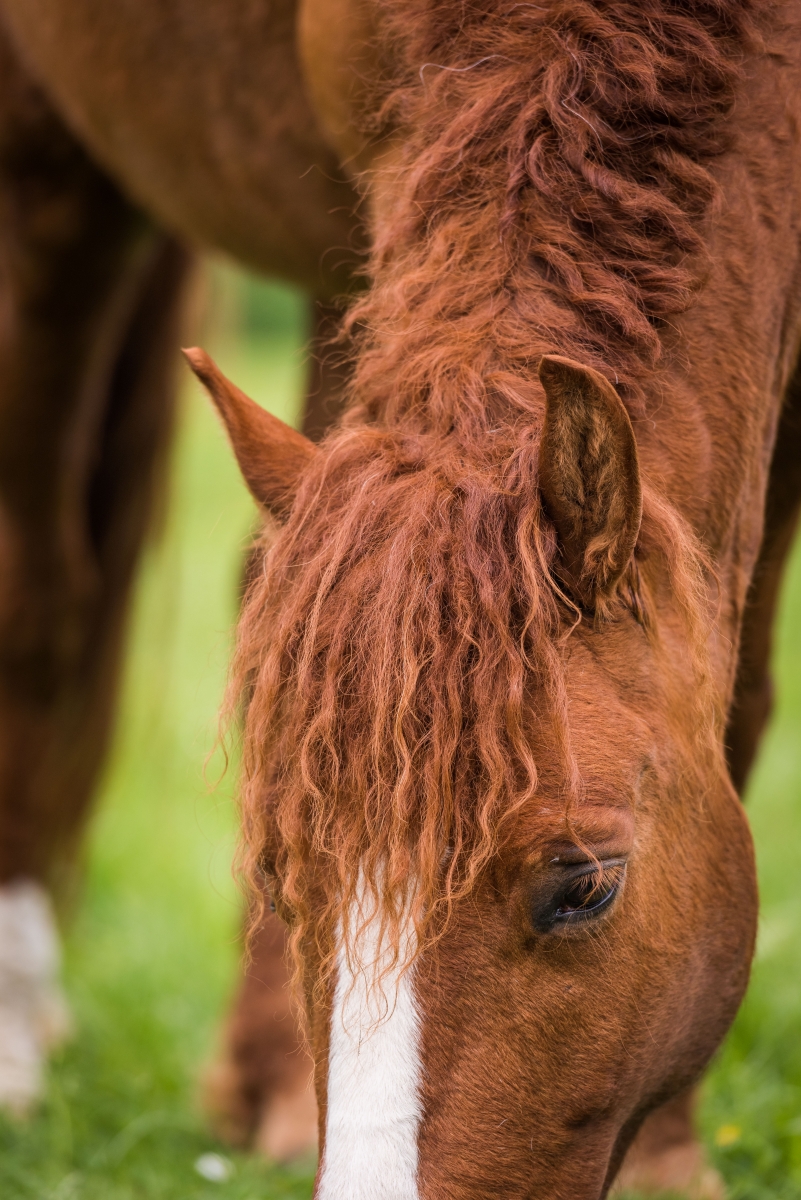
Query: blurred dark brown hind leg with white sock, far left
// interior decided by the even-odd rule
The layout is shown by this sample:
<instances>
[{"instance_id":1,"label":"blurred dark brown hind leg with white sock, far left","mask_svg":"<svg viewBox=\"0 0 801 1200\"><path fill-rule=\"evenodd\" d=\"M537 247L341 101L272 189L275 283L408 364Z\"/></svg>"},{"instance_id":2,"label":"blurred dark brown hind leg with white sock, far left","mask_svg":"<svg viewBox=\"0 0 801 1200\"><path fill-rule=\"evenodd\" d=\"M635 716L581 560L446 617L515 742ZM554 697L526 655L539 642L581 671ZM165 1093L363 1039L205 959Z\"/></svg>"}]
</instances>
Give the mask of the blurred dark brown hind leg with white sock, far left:
<instances>
[{"instance_id":1,"label":"blurred dark brown hind leg with white sock, far left","mask_svg":"<svg viewBox=\"0 0 801 1200\"><path fill-rule=\"evenodd\" d=\"M49 896L108 743L186 268L0 36L0 1104L17 1110L62 1024Z\"/></svg>"}]
</instances>

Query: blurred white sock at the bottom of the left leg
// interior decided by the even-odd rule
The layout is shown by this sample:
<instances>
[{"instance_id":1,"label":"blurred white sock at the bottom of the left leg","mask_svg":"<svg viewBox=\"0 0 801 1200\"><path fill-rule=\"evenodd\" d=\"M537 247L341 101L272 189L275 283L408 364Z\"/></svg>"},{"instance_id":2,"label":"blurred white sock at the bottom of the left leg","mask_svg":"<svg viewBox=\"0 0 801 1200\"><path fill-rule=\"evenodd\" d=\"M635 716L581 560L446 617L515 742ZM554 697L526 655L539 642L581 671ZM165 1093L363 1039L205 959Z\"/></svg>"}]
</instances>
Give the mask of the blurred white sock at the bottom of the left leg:
<instances>
[{"instance_id":1,"label":"blurred white sock at the bottom of the left leg","mask_svg":"<svg viewBox=\"0 0 801 1200\"><path fill-rule=\"evenodd\" d=\"M19 1115L42 1094L48 1050L70 1032L60 960L44 889L30 880L0 887L0 1108Z\"/></svg>"}]
</instances>

